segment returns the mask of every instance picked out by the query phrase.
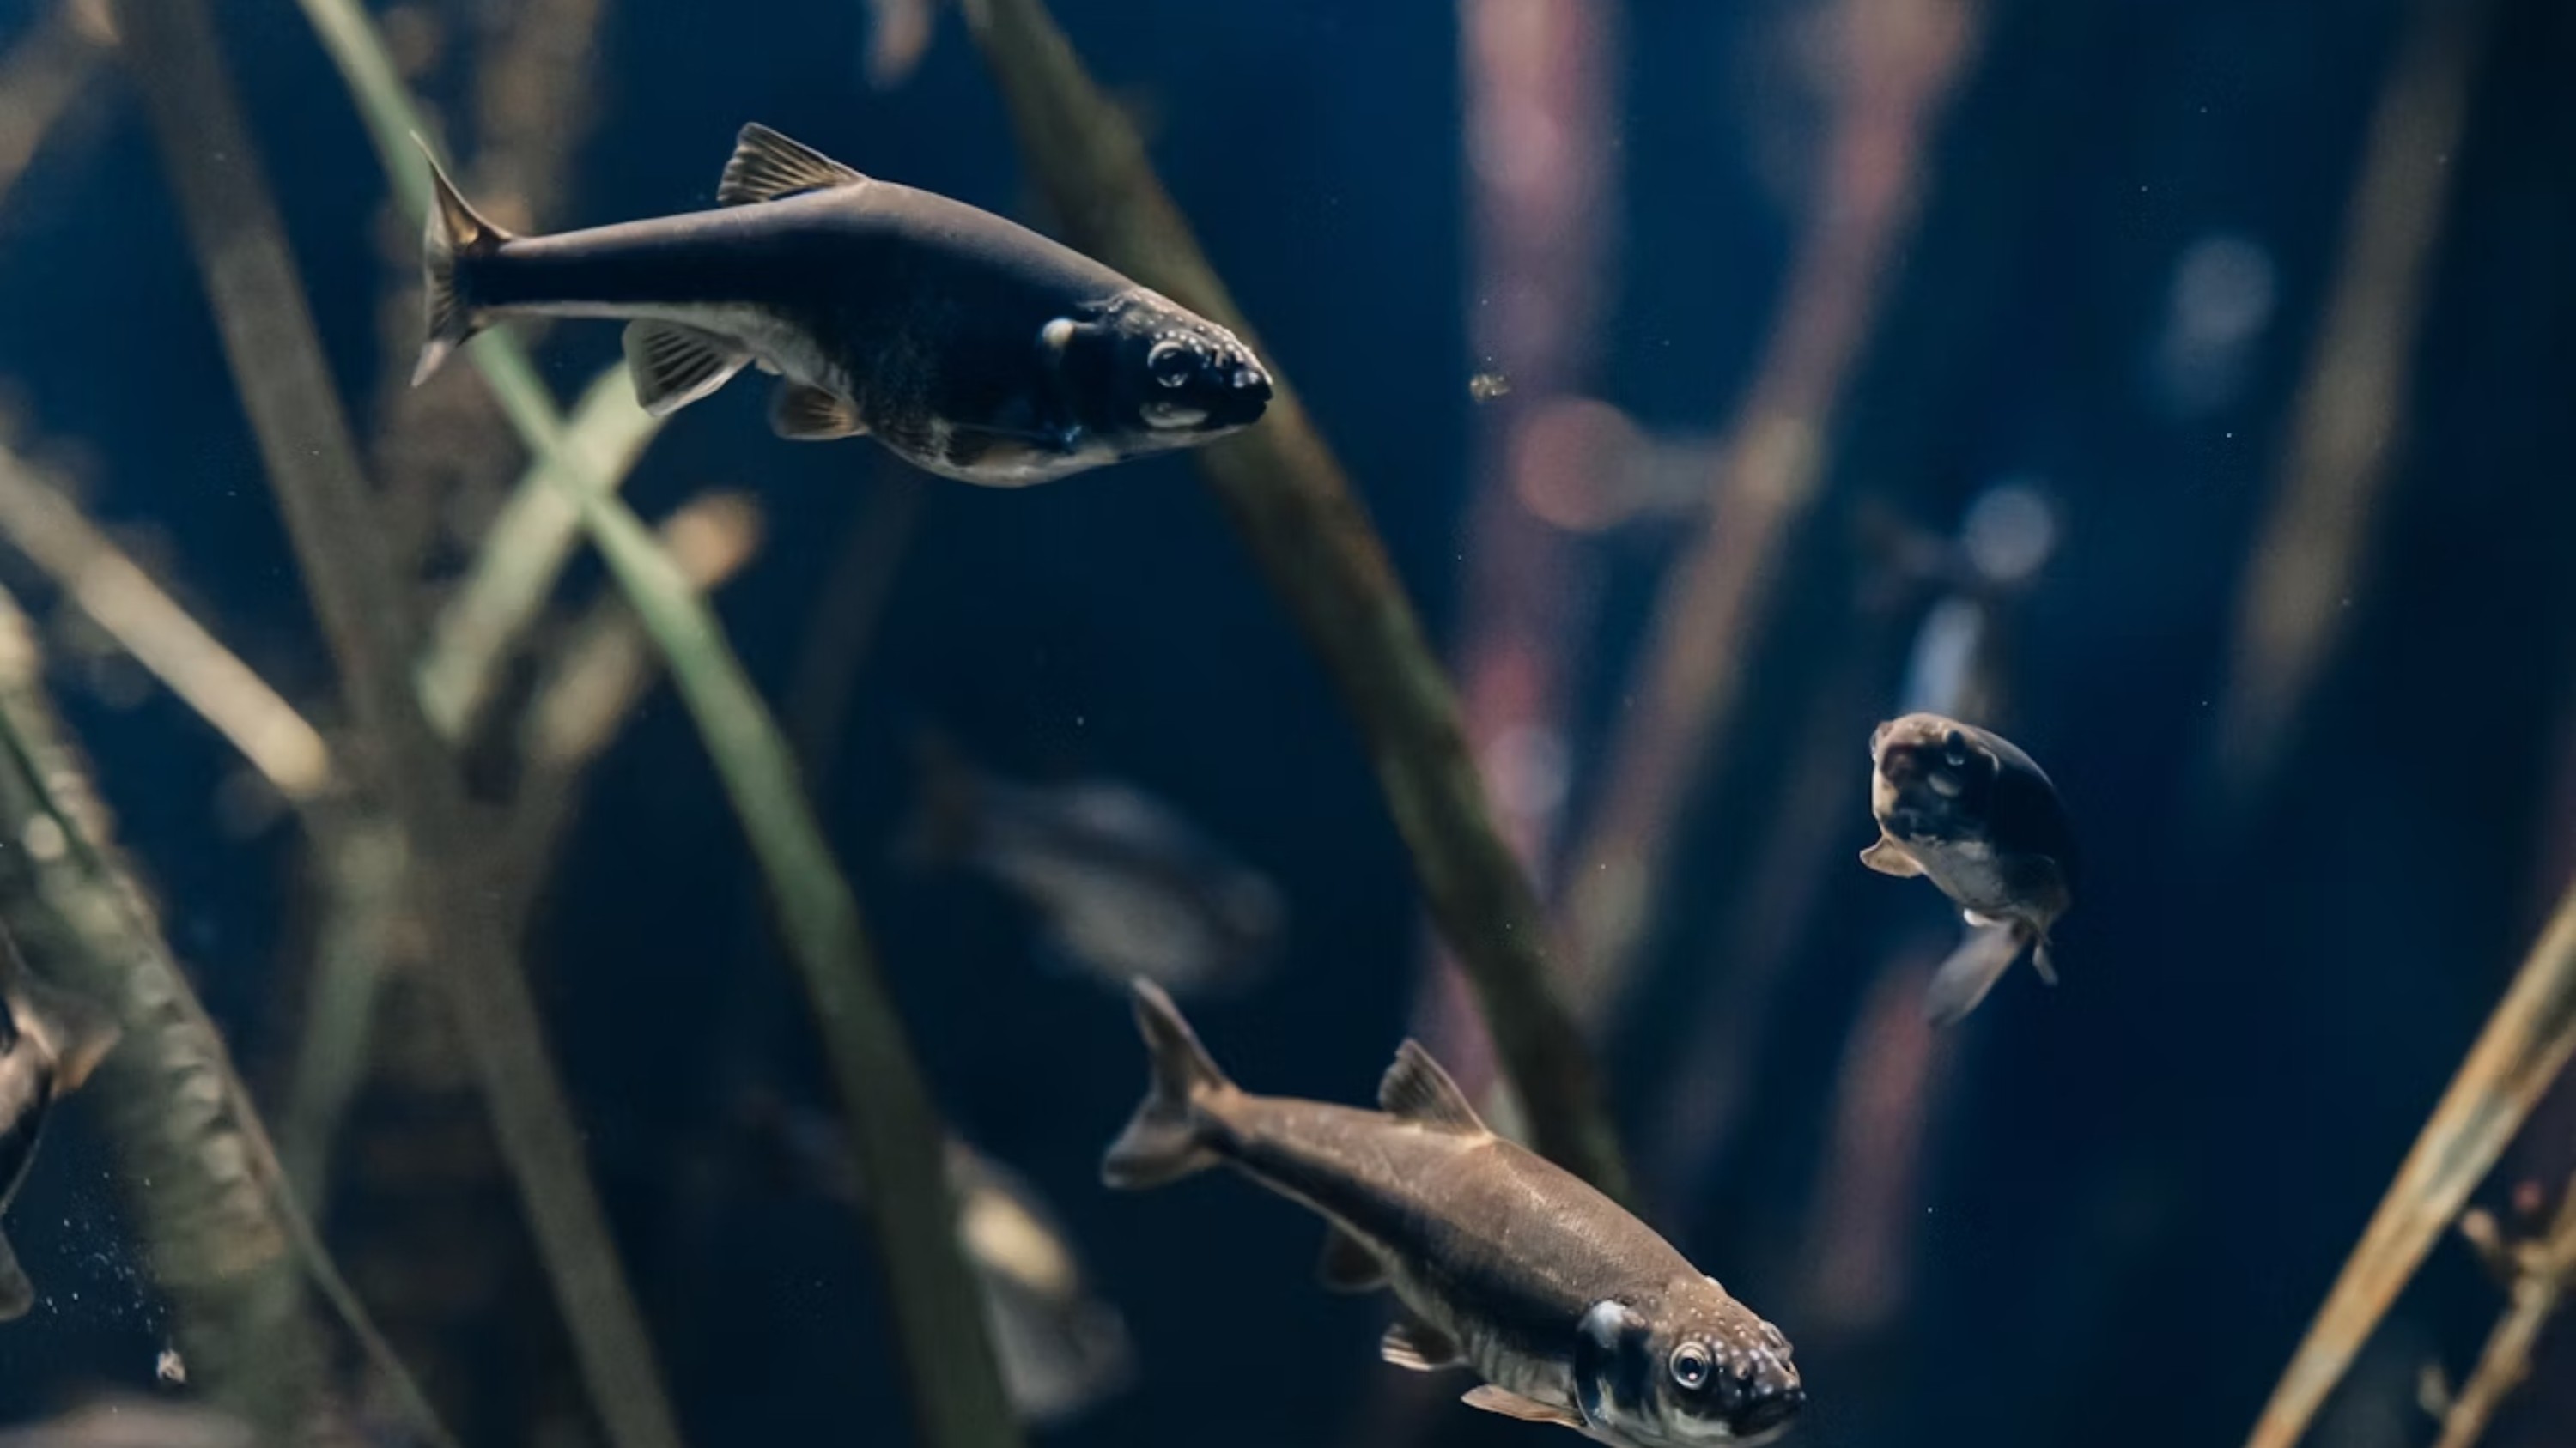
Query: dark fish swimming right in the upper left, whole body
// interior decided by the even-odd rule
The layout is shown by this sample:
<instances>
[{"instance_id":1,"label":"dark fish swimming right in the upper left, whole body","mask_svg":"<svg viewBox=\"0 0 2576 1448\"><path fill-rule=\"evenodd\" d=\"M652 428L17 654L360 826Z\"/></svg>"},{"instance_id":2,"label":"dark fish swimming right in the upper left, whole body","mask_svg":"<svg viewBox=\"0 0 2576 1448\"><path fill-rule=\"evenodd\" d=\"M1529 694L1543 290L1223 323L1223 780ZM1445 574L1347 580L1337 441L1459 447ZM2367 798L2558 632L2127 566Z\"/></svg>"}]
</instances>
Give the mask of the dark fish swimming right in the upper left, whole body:
<instances>
[{"instance_id":1,"label":"dark fish swimming right in the upper left, whole body","mask_svg":"<svg viewBox=\"0 0 2576 1448\"><path fill-rule=\"evenodd\" d=\"M716 211L554 237L513 237L430 175L415 384L502 314L623 317L654 417L760 366L781 376L781 438L871 433L987 487L1208 443L1270 405L1270 374L1216 322L768 126L742 126Z\"/></svg>"}]
</instances>

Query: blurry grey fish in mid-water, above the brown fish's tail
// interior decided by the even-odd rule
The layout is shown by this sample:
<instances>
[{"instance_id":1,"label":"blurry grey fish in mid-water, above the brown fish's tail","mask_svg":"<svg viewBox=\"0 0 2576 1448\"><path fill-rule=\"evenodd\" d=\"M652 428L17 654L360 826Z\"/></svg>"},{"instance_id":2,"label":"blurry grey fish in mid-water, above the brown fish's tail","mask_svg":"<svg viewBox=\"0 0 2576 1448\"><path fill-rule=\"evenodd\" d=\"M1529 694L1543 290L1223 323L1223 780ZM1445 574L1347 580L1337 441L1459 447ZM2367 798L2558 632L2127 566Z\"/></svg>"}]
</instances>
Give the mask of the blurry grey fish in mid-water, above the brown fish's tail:
<instances>
[{"instance_id":1,"label":"blurry grey fish in mid-water, above the brown fish's tail","mask_svg":"<svg viewBox=\"0 0 2576 1448\"><path fill-rule=\"evenodd\" d=\"M1278 956L1288 904L1154 796L1115 781L1030 786L925 737L907 853L966 863L1041 917L1051 953L1108 982L1236 989Z\"/></svg>"}]
</instances>

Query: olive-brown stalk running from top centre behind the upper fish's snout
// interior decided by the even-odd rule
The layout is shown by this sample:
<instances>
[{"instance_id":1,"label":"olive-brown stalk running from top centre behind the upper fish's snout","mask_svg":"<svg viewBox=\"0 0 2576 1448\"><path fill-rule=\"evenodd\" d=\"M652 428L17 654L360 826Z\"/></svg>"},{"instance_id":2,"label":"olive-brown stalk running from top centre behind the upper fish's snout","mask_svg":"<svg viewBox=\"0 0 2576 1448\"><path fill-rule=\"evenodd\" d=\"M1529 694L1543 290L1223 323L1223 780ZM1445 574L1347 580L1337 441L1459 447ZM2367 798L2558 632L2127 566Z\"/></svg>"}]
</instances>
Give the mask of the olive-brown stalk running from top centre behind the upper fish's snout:
<instances>
[{"instance_id":1,"label":"olive-brown stalk running from top centre behind the upper fish's snout","mask_svg":"<svg viewBox=\"0 0 2576 1448\"><path fill-rule=\"evenodd\" d=\"M1072 242L1262 353L1133 124L1100 93L1046 5L966 0L966 23ZM1198 469L1360 724L1432 920L1476 987L1533 1144L1625 1198L1618 1134L1548 971L1546 915L1476 776L1458 696L1342 464L1278 358L1262 353L1262 361L1275 381L1270 412L1257 428L1195 451Z\"/></svg>"}]
</instances>

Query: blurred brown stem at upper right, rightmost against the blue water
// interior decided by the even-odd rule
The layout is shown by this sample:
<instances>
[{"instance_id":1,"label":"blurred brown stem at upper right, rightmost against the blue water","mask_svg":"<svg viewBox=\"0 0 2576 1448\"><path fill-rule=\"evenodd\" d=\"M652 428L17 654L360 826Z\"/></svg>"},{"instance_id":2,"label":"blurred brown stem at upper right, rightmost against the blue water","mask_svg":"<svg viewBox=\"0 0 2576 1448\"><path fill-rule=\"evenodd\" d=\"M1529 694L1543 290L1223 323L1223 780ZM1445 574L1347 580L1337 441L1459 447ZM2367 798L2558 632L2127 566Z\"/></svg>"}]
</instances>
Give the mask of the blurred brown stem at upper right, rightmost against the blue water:
<instances>
[{"instance_id":1,"label":"blurred brown stem at upper right, rightmost against the blue water","mask_svg":"<svg viewBox=\"0 0 2576 1448\"><path fill-rule=\"evenodd\" d=\"M2486 13L2486 0L2419 0L2370 121L2344 258L2239 600L2210 734L2223 809L2249 801L2295 742L2367 575Z\"/></svg>"}]
</instances>

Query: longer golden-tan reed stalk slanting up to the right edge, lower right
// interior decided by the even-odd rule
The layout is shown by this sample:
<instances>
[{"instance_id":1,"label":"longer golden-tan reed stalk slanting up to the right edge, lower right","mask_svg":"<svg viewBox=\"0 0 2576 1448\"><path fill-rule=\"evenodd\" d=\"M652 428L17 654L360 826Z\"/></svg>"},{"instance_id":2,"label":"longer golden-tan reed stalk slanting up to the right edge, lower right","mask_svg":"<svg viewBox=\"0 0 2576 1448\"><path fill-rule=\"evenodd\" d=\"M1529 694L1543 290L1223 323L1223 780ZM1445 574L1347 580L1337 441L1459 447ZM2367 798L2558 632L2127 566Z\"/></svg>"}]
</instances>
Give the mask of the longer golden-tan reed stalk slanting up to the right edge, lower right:
<instances>
[{"instance_id":1,"label":"longer golden-tan reed stalk slanting up to the right edge, lower right","mask_svg":"<svg viewBox=\"0 0 2576 1448\"><path fill-rule=\"evenodd\" d=\"M2246 1448L2293 1448L2352 1358L2414 1278L2442 1226L2576 1051L2576 886L2568 886L2504 1002L2460 1062Z\"/></svg>"}]
</instances>

